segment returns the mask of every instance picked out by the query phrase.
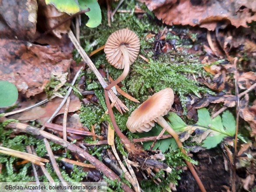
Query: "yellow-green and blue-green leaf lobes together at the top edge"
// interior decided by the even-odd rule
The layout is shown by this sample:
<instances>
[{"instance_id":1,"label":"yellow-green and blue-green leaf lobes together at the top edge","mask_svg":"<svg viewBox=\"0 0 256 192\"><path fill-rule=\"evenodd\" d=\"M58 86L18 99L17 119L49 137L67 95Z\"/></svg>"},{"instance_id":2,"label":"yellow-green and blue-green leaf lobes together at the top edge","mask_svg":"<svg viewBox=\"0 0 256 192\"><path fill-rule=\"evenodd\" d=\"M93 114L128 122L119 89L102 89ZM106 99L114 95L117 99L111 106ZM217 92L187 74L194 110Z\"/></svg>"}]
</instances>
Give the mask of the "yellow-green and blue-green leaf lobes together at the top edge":
<instances>
[{"instance_id":1,"label":"yellow-green and blue-green leaf lobes together at the top edge","mask_svg":"<svg viewBox=\"0 0 256 192\"><path fill-rule=\"evenodd\" d=\"M46 4L53 4L60 12L75 14L87 8L85 14L89 17L86 26L95 28L102 22L102 13L97 0L46 0Z\"/></svg>"}]
</instances>

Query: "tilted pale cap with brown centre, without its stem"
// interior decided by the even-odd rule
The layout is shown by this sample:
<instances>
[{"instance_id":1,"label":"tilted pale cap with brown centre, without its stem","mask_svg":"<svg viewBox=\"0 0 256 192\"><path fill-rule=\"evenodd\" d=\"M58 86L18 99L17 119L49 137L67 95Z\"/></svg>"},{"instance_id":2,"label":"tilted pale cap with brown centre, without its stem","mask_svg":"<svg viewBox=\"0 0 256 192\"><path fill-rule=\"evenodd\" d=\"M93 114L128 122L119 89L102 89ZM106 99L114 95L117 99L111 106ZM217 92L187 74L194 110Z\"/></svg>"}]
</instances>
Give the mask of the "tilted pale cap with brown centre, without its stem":
<instances>
[{"instance_id":1,"label":"tilted pale cap with brown centre, without its stem","mask_svg":"<svg viewBox=\"0 0 256 192\"><path fill-rule=\"evenodd\" d=\"M171 109L174 101L174 93L171 88L163 89L148 98L135 109L128 121L127 128L132 132L148 132L154 126L159 116L164 116Z\"/></svg>"}]
</instances>

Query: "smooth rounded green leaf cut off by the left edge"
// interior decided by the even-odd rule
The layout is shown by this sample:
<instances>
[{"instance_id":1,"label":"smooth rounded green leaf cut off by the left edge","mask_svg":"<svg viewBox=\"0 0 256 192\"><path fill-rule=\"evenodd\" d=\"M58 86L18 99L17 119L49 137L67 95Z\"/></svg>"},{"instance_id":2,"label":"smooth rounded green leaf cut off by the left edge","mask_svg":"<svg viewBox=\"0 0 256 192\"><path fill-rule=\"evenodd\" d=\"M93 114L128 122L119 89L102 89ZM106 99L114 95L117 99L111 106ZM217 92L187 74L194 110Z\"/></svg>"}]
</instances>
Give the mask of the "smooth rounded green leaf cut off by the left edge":
<instances>
[{"instance_id":1,"label":"smooth rounded green leaf cut off by the left edge","mask_svg":"<svg viewBox=\"0 0 256 192\"><path fill-rule=\"evenodd\" d=\"M14 84L0 80L0 107L13 105L18 99L18 90Z\"/></svg>"}]
</instances>

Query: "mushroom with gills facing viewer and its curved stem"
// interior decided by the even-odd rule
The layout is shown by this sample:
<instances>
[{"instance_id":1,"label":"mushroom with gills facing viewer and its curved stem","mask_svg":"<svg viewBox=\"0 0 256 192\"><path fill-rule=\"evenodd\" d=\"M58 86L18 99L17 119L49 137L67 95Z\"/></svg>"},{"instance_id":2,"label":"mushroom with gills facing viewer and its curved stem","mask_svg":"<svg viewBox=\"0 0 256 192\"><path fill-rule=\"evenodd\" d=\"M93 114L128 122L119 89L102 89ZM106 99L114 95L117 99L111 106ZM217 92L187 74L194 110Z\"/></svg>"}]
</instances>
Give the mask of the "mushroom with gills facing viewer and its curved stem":
<instances>
[{"instance_id":1,"label":"mushroom with gills facing viewer and its curved stem","mask_svg":"<svg viewBox=\"0 0 256 192\"><path fill-rule=\"evenodd\" d=\"M106 90L125 79L130 65L137 59L139 51L140 40L133 31L120 29L109 36L104 49L106 59L112 66L124 70L120 77L105 87Z\"/></svg>"}]
</instances>

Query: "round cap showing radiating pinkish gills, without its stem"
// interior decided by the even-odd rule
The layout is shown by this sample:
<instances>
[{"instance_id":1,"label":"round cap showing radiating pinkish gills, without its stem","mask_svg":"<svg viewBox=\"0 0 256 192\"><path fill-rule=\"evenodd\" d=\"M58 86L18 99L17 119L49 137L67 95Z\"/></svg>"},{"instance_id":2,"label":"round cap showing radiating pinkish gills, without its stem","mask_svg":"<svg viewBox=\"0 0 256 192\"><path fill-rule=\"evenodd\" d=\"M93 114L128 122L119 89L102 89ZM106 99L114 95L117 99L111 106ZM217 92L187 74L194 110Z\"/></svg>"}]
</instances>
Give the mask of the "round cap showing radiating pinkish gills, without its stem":
<instances>
[{"instance_id":1,"label":"round cap showing radiating pinkish gills, without its stem","mask_svg":"<svg viewBox=\"0 0 256 192\"><path fill-rule=\"evenodd\" d=\"M123 69L125 63L123 54L119 49L120 45L126 45L131 65L139 54L140 40L138 36L129 29L120 29L109 36L105 44L104 52L108 62L117 69Z\"/></svg>"}]
</instances>

